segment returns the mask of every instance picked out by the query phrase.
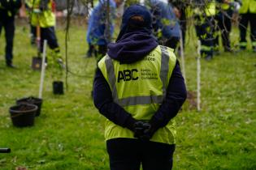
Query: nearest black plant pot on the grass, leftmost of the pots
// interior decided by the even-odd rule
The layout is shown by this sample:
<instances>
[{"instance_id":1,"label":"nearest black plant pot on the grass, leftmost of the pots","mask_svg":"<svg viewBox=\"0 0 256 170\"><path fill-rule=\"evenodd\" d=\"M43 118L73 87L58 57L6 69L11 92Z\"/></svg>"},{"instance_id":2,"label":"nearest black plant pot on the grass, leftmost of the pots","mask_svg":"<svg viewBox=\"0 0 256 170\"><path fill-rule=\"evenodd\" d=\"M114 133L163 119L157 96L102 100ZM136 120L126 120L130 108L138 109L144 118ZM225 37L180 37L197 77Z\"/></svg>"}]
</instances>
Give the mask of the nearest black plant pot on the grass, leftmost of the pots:
<instances>
[{"instance_id":1,"label":"nearest black plant pot on the grass, leftmost of the pots","mask_svg":"<svg viewBox=\"0 0 256 170\"><path fill-rule=\"evenodd\" d=\"M26 127L34 125L37 105L18 104L9 108L12 124L17 127Z\"/></svg>"}]
</instances>

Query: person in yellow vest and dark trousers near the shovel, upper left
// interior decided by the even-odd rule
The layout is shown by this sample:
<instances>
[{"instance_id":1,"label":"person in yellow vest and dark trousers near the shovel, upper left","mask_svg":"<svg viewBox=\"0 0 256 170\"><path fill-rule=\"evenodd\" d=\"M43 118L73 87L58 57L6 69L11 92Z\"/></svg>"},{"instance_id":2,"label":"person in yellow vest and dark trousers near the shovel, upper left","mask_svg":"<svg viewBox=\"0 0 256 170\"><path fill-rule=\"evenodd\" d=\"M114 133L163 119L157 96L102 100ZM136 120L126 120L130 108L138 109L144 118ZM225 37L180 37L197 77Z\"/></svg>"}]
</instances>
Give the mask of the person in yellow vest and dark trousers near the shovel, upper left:
<instances>
[{"instance_id":1,"label":"person in yellow vest and dark trousers near the shovel, upper left","mask_svg":"<svg viewBox=\"0 0 256 170\"><path fill-rule=\"evenodd\" d=\"M26 5L30 11L30 23L33 28L40 27L41 53L43 52L43 42L47 40L50 49L54 51L54 57L61 58L58 40L54 26L56 19L52 11L52 0L26 0Z\"/></svg>"}]
</instances>

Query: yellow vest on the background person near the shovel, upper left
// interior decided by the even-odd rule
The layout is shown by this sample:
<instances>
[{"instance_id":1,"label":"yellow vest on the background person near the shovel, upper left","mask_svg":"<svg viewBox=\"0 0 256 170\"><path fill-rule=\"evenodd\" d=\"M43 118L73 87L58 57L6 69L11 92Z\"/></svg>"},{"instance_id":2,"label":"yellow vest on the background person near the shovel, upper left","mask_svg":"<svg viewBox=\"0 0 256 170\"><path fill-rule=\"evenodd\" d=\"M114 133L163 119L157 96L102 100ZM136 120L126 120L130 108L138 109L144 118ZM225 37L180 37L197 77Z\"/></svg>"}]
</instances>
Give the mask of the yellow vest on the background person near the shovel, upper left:
<instances>
[{"instance_id":1,"label":"yellow vest on the background person near the shovel, upper left","mask_svg":"<svg viewBox=\"0 0 256 170\"><path fill-rule=\"evenodd\" d=\"M41 28L50 28L55 26L55 15L52 11L52 0L48 3L46 11L40 11L39 5L41 0L26 0L26 4L31 9L30 19L31 24L36 27L39 25Z\"/></svg>"}]
</instances>

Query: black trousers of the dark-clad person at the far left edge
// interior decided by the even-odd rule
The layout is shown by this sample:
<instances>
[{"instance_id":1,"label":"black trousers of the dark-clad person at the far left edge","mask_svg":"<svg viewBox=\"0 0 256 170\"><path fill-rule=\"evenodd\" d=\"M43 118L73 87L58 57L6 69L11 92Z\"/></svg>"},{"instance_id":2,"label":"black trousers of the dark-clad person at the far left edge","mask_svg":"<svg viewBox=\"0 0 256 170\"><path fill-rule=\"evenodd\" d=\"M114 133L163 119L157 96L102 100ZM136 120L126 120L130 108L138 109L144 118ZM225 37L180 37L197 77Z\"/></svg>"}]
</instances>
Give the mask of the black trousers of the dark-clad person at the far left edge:
<instances>
[{"instance_id":1,"label":"black trousers of the dark-clad person at the far left edge","mask_svg":"<svg viewBox=\"0 0 256 170\"><path fill-rule=\"evenodd\" d=\"M6 38L6 62L7 64L11 64L13 58L13 40L15 36L14 19L0 19L0 35L2 28L4 28Z\"/></svg>"}]
</instances>

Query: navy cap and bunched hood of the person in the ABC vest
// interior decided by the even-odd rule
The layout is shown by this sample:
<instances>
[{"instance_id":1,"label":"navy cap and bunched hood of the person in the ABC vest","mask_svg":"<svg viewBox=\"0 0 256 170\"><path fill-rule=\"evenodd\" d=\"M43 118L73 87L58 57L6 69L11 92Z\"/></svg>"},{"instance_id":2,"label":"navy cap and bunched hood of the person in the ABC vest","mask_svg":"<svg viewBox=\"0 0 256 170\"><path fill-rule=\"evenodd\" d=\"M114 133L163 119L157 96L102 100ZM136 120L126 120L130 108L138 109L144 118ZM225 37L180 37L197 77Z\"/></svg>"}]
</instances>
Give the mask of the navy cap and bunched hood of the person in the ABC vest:
<instances>
[{"instance_id":1,"label":"navy cap and bunched hood of the person in the ABC vest","mask_svg":"<svg viewBox=\"0 0 256 170\"><path fill-rule=\"evenodd\" d=\"M132 5L124 11L121 29L107 54L120 63L141 60L158 45L152 35L152 17L145 6Z\"/></svg>"}]
</instances>

